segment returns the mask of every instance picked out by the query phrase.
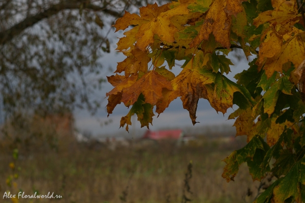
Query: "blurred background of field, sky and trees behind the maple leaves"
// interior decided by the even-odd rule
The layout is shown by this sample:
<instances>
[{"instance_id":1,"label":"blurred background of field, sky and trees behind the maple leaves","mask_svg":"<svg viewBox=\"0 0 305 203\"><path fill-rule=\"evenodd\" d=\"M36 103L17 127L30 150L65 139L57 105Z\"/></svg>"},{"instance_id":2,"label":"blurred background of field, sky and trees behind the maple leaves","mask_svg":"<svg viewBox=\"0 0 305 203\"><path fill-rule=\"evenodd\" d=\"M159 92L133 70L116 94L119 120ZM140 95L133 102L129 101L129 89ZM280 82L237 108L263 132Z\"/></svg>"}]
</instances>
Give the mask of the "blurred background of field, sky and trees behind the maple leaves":
<instances>
[{"instance_id":1,"label":"blurred background of field, sky and trees behind the maple leaves","mask_svg":"<svg viewBox=\"0 0 305 203\"><path fill-rule=\"evenodd\" d=\"M246 144L234 120L199 100L197 123L180 99L129 133L118 105L107 117L106 76L125 59L111 26L127 10L165 0L0 1L0 202L251 202L261 185L223 160ZM248 68L239 50L228 78ZM177 75L183 62L177 62ZM157 114L157 113L156 113ZM62 198L2 198L8 192ZM17 195L18 196L18 195Z\"/></svg>"}]
</instances>

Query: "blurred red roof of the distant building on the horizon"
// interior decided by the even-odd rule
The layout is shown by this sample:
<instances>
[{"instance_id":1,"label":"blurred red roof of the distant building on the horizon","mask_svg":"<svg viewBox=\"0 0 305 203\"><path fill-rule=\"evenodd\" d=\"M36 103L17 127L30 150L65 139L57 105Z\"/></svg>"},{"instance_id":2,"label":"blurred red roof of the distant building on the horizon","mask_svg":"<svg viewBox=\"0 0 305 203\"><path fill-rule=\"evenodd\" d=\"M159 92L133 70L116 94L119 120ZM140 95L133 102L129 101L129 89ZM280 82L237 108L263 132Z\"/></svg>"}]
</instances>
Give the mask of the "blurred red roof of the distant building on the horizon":
<instances>
[{"instance_id":1,"label":"blurred red roof of the distant building on the horizon","mask_svg":"<svg viewBox=\"0 0 305 203\"><path fill-rule=\"evenodd\" d=\"M159 131L151 131L147 130L144 134L143 138L149 139L179 139L182 137L182 130L159 130Z\"/></svg>"}]
</instances>

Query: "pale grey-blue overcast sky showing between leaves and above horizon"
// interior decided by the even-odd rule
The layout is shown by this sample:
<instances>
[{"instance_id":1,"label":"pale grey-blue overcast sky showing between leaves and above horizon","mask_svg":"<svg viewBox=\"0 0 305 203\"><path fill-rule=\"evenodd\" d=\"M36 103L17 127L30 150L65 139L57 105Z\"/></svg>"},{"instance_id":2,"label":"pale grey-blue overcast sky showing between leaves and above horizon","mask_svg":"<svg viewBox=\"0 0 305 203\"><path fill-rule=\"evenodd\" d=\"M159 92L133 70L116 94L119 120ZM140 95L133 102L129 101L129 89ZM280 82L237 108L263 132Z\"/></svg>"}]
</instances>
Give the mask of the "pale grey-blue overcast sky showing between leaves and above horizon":
<instances>
[{"instance_id":1,"label":"pale grey-blue overcast sky showing between leaves and above horizon","mask_svg":"<svg viewBox=\"0 0 305 203\"><path fill-rule=\"evenodd\" d=\"M105 54L105 56L102 58L103 64L104 64L104 73L105 78L106 76L113 75L112 72L114 72L116 68L117 62L124 61L125 55L118 53L115 51L116 48L116 42L118 41L117 37L122 37L123 32L121 33L113 33L114 31L111 31L110 36L112 38L112 46L111 51L109 54ZM241 52L242 53L242 52ZM243 53L242 53L243 54ZM229 55L230 56L230 55ZM236 61L233 59L232 56L230 56L232 59L234 66L230 66L231 72L227 75L227 77L233 81L236 81L233 76L236 73L241 72L242 70L248 69L248 62L246 61L246 57L244 60ZM183 64L182 62L177 62L179 64ZM108 67L112 67L112 72L109 71ZM173 67L173 72L175 75L177 75L181 71L181 68L176 66ZM75 122L76 122L76 128L78 128L81 132L83 131L89 131L93 135L105 135L105 134L126 134L125 128L119 129L119 123L121 117L124 117L130 109L128 109L123 103L117 105L115 109L113 110L113 113L109 115L109 118L107 118L107 112L106 112L106 105L107 105L107 98L106 93L111 91L113 89L113 86L109 83L104 83L103 88L100 92L97 92L97 97L100 98L100 100L103 100L101 109L96 113L96 115L92 116L88 112L82 110L77 110L75 112ZM131 108L131 107L130 107ZM238 107L236 105L233 106L233 109L236 110ZM197 107L197 123L195 126L199 125L222 125L222 124L228 124L233 125L234 120L227 120L228 115L233 112L232 108L229 108L227 110L227 113L223 115L221 112L217 113L214 108L212 108L209 104L209 102L205 99L200 99ZM155 111L154 111L155 113ZM171 102L169 107L165 109L163 113L160 114L159 118L157 118L157 113L153 117L153 126L149 126L149 129L151 130L157 130L160 128L174 128L174 127L187 127L187 126L193 126L192 121L189 117L189 112L182 107L182 102L180 98L175 99ZM135 116L134 116L135 117ZM107 125L105 125L107 123ZM137 118L132 118L133 126L130 127L130 131L138 131L140 129L140 123L137 121ZM146 127L144 127L146 128Z\"/></svg>"}]
</instances>

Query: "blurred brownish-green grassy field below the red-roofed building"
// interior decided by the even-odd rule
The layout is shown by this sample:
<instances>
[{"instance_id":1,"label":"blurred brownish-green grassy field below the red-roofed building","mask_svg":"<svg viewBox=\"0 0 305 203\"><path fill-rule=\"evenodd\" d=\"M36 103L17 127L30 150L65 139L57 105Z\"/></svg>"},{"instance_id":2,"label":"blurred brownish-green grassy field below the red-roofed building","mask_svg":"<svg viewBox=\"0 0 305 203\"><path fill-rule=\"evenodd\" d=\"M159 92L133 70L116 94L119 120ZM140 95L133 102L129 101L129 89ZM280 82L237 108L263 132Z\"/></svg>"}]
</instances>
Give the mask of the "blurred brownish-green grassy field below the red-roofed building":
<instances>
[{"instance_id":1,"label":"blurred brownish-green grassy field below the red-roofed building","mask_svg":"<svg viewBox=\"0 0 305 203\"><path fill-rule=\"evenodd\" d=\"M230 142L201 139L184 147L167 141L111 151L92 150L70 140L59 141L57 151L39 144L27 150L20 148L19 158L14 161L12 151L2 144L0 202L15 201L3 198L6 191L16 196L19 191L25 195L53 192L63 196L20 198L19 202L161 203L181 202L183 194L194 203L251 202L253 196L246 195L248 188L257 191L258 183L253 184L246 165L242 165L234 182L227 183L221 177L225 165L221 160L234 148L236 144ZM190 161L193 167L188 183L192 193L183 192ZM15 167L9 166L11 162ZM9 187L6 181L15 173L18 178L13 178Z\"/></svg>"}]
</instances>

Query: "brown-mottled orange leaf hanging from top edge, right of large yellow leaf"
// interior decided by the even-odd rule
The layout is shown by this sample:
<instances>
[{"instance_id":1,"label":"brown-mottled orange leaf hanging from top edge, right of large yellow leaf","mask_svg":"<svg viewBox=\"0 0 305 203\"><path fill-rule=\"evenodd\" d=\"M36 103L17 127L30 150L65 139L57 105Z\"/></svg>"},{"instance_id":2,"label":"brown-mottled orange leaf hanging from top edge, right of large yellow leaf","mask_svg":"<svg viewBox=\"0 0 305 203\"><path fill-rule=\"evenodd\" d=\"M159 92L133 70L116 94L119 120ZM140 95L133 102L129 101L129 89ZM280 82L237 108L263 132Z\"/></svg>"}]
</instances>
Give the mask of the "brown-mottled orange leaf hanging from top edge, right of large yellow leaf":
<instances>
[{"instance_id":1,"label":"brown-mottled orange leaf hanging from top edge, right of large yellow leaf","mask_svg":"<svg viewBox=\"0 0 305 203\"><path fill-rule=\"evenodd\" d=\"M231 15L242 12L241 2L243 0L216 0L210 6L198 36L191 42L190 46L197 46L202 40L208 40L209 34L215 36L217 42L223 47L230 48Z\"/></svg>"}]
</instances>

